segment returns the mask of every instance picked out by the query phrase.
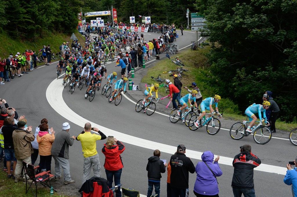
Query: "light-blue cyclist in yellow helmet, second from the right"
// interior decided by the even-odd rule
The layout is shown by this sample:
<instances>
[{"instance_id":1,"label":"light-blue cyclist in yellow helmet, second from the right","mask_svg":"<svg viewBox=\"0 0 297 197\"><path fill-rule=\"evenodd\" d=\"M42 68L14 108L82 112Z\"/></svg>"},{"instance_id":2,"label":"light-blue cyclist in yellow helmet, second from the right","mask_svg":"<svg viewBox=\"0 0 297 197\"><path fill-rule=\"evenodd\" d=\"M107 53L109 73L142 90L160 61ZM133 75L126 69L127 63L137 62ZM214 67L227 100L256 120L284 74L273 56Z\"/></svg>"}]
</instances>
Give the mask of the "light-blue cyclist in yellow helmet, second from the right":
<instances>
[{"instance_id":1,"label":"light-blue cyclist in yellow helmet, second from the right","mask_svg":"<svg viewBox=\"0 0 297 197\"><path fill-rule=\"evenodd\" d=\"M221 97L219 95L214 95L214 97L208 97L201 102L200 108L201 108L202 114L198 117L198 120L194 123L197 128L199 127L199 124L198 124L199 121L206 114L206 111L205 111L206 109L209 110L211 113L219 112L218 103L220 100L221 100ZM216 111L214 111L214 109L212 108L212 105L215 105ZM219 118L221 118L221 117L219 117Z\"/></svg>"}]
</instances>

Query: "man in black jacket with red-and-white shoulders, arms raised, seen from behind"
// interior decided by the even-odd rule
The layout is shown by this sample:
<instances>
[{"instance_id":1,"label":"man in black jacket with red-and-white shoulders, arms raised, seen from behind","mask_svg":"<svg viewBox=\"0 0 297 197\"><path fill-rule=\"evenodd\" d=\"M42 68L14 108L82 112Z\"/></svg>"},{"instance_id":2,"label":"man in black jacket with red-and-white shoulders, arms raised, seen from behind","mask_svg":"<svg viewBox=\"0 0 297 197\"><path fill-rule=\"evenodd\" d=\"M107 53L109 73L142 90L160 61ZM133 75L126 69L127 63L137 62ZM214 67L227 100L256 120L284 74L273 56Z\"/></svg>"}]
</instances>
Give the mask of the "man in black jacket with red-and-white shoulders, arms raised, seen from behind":
<instances>
[{"instance_id":1,"label":"man in black jacket with red-and-white shoulders, arms raised, seen from behind","mask_svg":"<svg viewBox=\"0 0 297 197\"><path fill-rule=\"evenodd\" d=\"M254 168L261 164L261 160L252 153L250 145L240 147L240 154L233 160L234 173L232 178L232 189L234 197L244 196L256 197L254 190Z\"/></svg>"}]
</instances>

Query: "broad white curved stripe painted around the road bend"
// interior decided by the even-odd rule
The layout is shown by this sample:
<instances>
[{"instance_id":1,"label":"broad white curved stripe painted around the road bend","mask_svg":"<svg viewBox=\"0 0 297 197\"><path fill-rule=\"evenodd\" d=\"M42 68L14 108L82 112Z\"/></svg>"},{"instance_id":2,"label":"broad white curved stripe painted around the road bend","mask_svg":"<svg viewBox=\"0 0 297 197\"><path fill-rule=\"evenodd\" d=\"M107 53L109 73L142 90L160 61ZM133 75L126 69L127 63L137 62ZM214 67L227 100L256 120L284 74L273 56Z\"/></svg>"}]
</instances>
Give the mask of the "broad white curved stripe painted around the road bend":
<instances>
[{"instance_id":1,"label":"broad white curved stripe painted around the road bend","mask_svg":"<svg viewBox=\"0 0 297 197\"><path fill-rule=\"evenodd\" d=\"M67 104L63 100L63 89L64 87L61 85L62 79L54 79L50 85L48 86L46 90L46 98L48 100L48 103L50 106L61 116L66 118L67 120L73 122L74 124L77 124L78 126L84 127L86 122L90 122L93 126L100 128L100 130L108 135L113 135L119 137L123 142L148 148L151 150L155 150L156 147L162 152L172 154L174 150L176 150L176 146L170 146L158 142L153 142L150 140L141 139L139 137L135 137L132 135L124 134L121 132L114 131L112 129L100 126L94 122L91 122L81 116L79 116L77 113L75 113L72 109L70 109ZM82 95L83 96L83 95ZM203 152L195 151L195 150L187 150L187 156L201 160ZM215 156L216 157L216 156ZM220 164L225 164L228 166L232 166L233 158L220 156ZM279 166L273 166L268 164L261 164L255 170L262 171L262 172L269 172L269 173L277 173L285 175L287 169L284 167Z\"/></svg>"}]
</instances>

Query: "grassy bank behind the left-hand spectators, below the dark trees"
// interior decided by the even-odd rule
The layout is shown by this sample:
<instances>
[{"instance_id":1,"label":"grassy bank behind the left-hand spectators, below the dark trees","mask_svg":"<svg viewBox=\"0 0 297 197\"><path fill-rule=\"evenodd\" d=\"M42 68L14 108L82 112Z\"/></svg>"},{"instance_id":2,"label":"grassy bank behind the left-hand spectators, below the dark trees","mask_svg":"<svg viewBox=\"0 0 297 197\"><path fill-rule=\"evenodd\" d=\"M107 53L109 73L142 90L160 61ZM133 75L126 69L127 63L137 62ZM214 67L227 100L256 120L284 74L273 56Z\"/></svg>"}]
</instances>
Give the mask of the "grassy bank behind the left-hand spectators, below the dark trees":
<instances>
[{"instance_id":1,"label":"grassy bank behind the left-hand spectators, below the dark trees","mask_svg":"<svg viewBox=\"0 0 297 197\"><path fill-rule=\"evenodd\" d=\"M78 31L74 33L78 38L78 42L84 45L83 43L85 43L85 37L78 33ZM69 41L71 45L72 41L70 40L71 35L57 32L47 33L42 38L37 38L34 41L12 39L3 32L0 33L0 37L0 56L2 57L2 60L7 58L10 53L15 55L17 52L25 52L26 49L31 49L32 51L36 51L36 53L38 53L38 50L42 49L43 45L48 46L48 44L50 44L52 52L57 53L60 51L59 47L63 42Z\"/></svg>"}]
</instances>

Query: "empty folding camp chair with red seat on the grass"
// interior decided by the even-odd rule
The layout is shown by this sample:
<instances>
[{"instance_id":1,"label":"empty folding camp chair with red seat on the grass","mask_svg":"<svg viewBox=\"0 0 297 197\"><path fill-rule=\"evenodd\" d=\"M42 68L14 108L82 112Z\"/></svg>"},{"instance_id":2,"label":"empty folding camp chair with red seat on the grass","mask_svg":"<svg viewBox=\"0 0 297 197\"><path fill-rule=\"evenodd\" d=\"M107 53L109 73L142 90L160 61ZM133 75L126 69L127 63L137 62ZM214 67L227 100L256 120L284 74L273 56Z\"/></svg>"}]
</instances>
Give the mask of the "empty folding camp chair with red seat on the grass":
<instances>
[{"instance_id":1,"label":"empty folding camp chair with red seat on the grass","mask_svg":"<svg viewBox=\"0 0 297 197\"><path fill-rule=\"evenodd\" d=\"M38 167L39 166L34 167L34 165L27 164L23 161L23 170L26 177L26 193L29 191L29 189L31 189L35 197L37 197L37 185L41 184L44 187L48 186L50 188L50 179L54 177L53 174L50 174L50 171L41 172L35 175L35 169L37 169ZM29 185L28 189L27 183ZM31 187L33 183L35 184L35 193L33 191L33 188ZM55 189L54 191L57 192Z\"/></svg>"}]
</instances>

